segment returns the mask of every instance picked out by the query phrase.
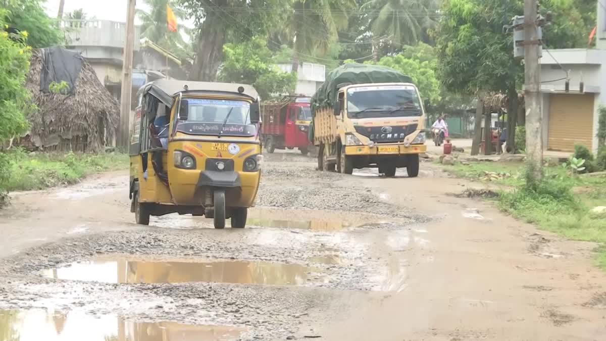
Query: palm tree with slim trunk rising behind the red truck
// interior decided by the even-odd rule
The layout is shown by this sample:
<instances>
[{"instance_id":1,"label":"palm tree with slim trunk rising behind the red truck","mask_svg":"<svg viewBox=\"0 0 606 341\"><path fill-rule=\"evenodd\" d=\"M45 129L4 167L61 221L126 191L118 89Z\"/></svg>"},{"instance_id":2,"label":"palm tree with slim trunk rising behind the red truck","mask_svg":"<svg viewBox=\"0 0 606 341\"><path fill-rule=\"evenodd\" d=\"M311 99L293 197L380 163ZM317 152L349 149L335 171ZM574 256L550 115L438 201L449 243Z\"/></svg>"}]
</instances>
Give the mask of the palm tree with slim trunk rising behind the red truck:
<instances>
[{"instance_id":1,"label":"palm tree with slim trunk rising behind the red truck","mask_svg":"<svg viewBox=\"0 0 606 341\"><path fill-rule=\"evenodd\" d=\"M293 69L299 69L302 53L325 55L347 28L348 15L356 8L355 0L295 0L288 31L293 37Z\"/></svg>"}]
</instances>

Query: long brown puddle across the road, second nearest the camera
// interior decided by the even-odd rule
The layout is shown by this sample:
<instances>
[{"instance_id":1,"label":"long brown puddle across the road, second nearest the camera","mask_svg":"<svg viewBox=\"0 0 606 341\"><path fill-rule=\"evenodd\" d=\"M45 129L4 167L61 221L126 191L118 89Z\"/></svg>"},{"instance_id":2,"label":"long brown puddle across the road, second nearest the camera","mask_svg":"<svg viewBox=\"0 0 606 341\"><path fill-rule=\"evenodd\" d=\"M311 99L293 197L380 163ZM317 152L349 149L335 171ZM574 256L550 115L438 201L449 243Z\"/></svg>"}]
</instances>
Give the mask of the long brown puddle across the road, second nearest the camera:
<instances>
[{"instance_id":1,"label":"long brown puddle across the road, second nearest the camera","mask_svg":"<svg viewBox=\"0 0 606 341\"><path fill-rule=\"evenodd\" d=\"M48 269L42 275L51 279L102 283L185 283L216 282L261 285L302 285L319 269L299 264L216 261L95 258Z\"/></svg>"}]
</instances>

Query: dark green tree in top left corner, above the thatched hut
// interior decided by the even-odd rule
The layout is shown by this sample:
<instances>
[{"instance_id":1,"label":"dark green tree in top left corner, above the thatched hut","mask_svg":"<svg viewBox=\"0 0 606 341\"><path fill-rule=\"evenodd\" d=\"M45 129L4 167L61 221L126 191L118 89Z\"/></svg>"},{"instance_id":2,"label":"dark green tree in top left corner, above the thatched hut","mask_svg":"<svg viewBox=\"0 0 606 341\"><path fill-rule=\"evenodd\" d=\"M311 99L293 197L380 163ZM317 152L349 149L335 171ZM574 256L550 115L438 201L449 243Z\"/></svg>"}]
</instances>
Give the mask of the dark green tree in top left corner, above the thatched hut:
<instances>
[{"instance_id":1,"label":"dark green tree in top left corner, above the thatched hut","mask_svg":"<svg viewBox=\"0 0 606 341\"><path fill-rule=\"evenodd\" d=\"M34 47L48 47L62 42L61 30L44 12L42 0L5 0L8 10L5 25L28 33L27 43Z\"/></svg>"}]
</instances>

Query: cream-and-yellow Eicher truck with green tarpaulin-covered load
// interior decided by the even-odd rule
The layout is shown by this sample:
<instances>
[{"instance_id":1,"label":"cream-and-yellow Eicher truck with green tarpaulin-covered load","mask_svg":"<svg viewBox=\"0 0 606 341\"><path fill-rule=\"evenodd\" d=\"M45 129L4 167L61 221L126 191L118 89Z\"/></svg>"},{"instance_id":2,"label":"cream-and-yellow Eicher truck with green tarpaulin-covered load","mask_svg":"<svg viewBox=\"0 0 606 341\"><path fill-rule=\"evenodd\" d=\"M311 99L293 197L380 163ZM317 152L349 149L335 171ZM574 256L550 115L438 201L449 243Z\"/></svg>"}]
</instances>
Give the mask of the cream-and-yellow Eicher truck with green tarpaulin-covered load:
<instances>
[{"instance_id":1,"label":"cream-and-yellow Eicher truck with green tarpaulin-covered load","mask_svg":"<svg viewBox=\"0 0 606 341\"><path fill-rule=\"evenodd\" d=\"M425 146L425 109L410 77L383 66L345 64L333 70L311 100L310 141L318 169L351 174L378 167L393 177L406 167L419 174Z\"/></svg>"}]
</instances>

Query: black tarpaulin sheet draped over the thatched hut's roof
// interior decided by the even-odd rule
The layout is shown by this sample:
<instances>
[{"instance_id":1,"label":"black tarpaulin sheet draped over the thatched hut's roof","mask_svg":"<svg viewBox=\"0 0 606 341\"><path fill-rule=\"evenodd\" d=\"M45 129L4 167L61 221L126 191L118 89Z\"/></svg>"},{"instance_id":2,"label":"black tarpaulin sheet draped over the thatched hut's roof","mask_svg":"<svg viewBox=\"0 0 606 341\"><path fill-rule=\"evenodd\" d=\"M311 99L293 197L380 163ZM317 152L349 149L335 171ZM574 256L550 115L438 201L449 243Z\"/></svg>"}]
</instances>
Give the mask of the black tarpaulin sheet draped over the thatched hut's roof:
<instances>
[{"instance_id":1,"label":"black tarpaulin sheet draped over the thatched hut's roof","mask_svg":"<svg viewBox=\"0 0 606 341\"><path fill-rule=\"evenodd\" d=\"M40 73L40 91L50 93L49 86L53 82L67 83L67 89L61 93L71 95L76 88L76 80L82 70L84 58L79 52L62 49L54 46L43 50L42 71Z\"/></svg>"}]
</instances>

